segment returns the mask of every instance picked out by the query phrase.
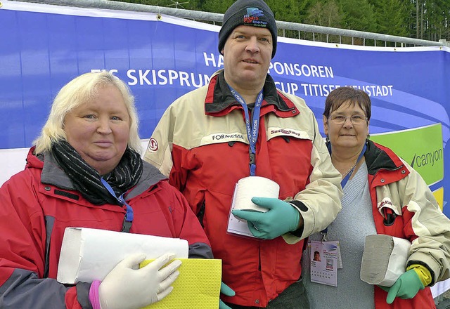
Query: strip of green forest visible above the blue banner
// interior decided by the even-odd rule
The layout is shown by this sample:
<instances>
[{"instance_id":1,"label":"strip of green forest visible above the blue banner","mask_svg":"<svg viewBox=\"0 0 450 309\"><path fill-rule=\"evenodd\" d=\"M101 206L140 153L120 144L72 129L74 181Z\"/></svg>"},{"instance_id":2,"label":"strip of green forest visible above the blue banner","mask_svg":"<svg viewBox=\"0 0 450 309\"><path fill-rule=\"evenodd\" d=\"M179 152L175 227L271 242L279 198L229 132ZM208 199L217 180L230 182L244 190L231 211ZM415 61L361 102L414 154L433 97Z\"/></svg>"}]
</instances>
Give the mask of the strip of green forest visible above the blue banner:
<instances>
[{"instance_id":1,"label":"strip of green forest visible above the blue banner","mask_svg":"<svg viewBox=\"0 0 450 309\"><path fill-rule=\"evenodd\" d=\"M236 0L117 0L134 4L178 7L225 13ZM438 41L450 41L450 0L264 0L276 20L375 32ZM293 30L281 33L297 39L320 39ZM353 41L342 41L358 44Z\"/></svg>"}]
</instances>

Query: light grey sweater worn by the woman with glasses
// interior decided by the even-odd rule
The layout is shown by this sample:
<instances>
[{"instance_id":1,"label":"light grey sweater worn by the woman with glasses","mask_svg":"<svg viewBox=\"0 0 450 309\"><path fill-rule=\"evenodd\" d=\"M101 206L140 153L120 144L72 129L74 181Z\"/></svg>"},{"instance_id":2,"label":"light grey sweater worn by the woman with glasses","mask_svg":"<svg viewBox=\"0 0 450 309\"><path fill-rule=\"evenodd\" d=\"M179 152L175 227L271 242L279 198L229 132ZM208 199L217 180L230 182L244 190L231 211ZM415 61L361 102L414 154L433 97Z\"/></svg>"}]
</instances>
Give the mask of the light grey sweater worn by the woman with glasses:
<instances>
[{"instance_id":1,"label":"light grey sweater worn by the woman with glasses","mask_svg":"<svg viewBox=\"0 0 450 309\"><path fill-rule=\"evenodd\" d=\"M328 226L328 240L340 242L342 268L338 269L338 287L310 281L310 253L308 249L304 251L302 277L311 309L375 308L373 286L359 278L364 240L366 235L376 234L367 176L364 162L345 185L342 211ZM311 235L309 239L321 240L321 233Z\"/></svg>"}]
</instances>

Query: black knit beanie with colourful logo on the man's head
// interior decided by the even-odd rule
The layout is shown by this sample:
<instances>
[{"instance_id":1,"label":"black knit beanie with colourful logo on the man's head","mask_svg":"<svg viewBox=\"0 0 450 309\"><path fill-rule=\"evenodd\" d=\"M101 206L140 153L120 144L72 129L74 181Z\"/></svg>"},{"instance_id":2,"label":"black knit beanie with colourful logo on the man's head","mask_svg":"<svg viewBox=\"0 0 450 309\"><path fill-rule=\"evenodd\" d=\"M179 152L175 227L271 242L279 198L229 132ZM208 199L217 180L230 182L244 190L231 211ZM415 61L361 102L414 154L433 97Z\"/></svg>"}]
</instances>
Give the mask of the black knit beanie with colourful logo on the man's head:
<instances>
[{"instance_id":1,"label":"black knit beanie with colourful logo on the man's head","mask_svg":"<svg viewBox=\"0 0 450 309\"><path fill-rule=\"evenodd\" d=\"M241 25L269 29L272 34L272 58L274 58L278 31L274 13L262 0L238 0L226 10L224 22L219 32L219 52L221 53L224 49L225 41L233 32L233 29Z\"/></svg>"}]
</instances>

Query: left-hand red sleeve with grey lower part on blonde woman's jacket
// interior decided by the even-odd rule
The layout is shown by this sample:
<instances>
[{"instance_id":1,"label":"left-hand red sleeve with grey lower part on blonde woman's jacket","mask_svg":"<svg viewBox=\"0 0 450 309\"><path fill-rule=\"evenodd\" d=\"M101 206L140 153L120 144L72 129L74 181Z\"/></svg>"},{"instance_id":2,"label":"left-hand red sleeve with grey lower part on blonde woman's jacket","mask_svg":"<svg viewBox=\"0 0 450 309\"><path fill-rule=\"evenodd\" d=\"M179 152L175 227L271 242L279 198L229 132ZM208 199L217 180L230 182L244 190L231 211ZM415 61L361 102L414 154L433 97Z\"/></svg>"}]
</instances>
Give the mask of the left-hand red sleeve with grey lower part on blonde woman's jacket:
<instances>
[{"instance_id":1,"label":"left-hand red sleeve with grey lower part on blonde woman's jacket","mask_svg":"<svg viewBox=\"0 0 450 309\"><path fill-rule=\"evenodd\" d=\"M81 309L75 287L44 277L46 220L36 179L26 169L0 188L0 298L8 308Z\"/></svg>"}]
</instances>

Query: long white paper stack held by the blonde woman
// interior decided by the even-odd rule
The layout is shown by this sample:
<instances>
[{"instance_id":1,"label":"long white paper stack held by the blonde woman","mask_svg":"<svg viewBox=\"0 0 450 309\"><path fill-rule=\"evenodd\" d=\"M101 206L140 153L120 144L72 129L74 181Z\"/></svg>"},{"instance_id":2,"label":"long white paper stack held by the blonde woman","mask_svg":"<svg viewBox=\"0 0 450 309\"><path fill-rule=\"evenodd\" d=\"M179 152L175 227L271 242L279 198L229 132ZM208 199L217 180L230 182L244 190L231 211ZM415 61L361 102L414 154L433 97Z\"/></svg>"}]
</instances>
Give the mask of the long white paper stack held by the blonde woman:
<instances>
[{"instance_id":1,"label":"long white paper stack held by the blonde woman","mask_svg":"<svg viewBox=\"0 0 450 309\"><path fill-rule=\"evenodd\" d=\"M97 230L66 228L56 279L63 284L103 280L115 265L131 254L146 254L146 259L172 253L188 258L184 239Z\"/></svg>"}]
</instances>

